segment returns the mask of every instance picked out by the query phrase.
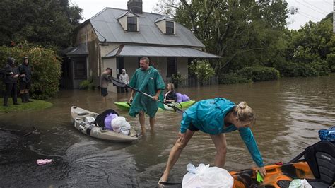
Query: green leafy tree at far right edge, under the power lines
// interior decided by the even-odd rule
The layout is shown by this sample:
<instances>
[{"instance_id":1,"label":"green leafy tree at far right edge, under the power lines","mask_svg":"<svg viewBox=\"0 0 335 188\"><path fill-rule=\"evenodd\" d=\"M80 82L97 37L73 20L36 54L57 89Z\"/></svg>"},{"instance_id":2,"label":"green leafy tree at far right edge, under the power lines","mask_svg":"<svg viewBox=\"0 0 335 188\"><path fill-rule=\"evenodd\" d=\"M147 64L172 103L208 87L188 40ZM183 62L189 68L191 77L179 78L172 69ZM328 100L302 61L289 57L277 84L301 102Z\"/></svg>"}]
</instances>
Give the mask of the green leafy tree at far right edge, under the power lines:
<instances>
[{"instance_id":1,"label":"green leafy tree at far right edge, under the power lines","mask_svg":"<svg viewBox=\"0 0 335 188\"><path fill-rule=\"evenodd\" d=\"M332 13L319 23L306 23L290 32L286 63L276 65L284 76L322 76L334 67L335 36Z\"/></svg>"}]
</instances>

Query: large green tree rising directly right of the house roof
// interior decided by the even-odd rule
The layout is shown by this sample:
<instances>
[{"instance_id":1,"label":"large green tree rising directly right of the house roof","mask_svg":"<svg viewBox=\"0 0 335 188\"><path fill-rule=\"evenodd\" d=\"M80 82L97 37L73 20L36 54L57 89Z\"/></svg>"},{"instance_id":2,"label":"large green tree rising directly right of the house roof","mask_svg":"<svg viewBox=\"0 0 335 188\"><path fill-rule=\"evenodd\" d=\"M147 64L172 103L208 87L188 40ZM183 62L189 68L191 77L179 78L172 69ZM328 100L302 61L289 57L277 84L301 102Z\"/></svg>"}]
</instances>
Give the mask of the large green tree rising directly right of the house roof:
<instances>
[{"instance_id":1,"label":"large green tree rising directly right of the house roof","mask_svg":"<svg viewBox=\"0 0 335 188\"><path fill-rule=\"evenodd\" d=\"M163 0L156 10L170 14L222 58L216 72L283 61L286 1Z\"/></svg>"}]
</instances>

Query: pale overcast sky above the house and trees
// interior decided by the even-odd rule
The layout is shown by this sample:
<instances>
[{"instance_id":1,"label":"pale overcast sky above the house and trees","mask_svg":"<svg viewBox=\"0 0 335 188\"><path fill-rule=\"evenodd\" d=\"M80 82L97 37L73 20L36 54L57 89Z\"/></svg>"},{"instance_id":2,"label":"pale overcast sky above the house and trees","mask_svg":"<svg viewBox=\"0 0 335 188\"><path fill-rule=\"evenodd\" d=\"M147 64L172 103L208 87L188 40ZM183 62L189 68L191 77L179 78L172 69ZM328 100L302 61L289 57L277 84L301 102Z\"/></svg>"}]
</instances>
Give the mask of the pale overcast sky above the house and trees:
<instances>
[{"instance_id":1,"label":"pale overcast sky above the house and trees","mask_svg":"<svg viewBox=\"0 0 335 188\"><path fill-rule=\"evenodd\" d=\"M83 17L91 18L105 7L127 9L128 0L69 0L83 9ZM288 18L288 28L299 29L307 21L318 22L333 11L332 0L287 0L288 6L298 8L298 13ZM143 0L143 11L153 12L158 0Z\"/></svg>"}]
</instances>

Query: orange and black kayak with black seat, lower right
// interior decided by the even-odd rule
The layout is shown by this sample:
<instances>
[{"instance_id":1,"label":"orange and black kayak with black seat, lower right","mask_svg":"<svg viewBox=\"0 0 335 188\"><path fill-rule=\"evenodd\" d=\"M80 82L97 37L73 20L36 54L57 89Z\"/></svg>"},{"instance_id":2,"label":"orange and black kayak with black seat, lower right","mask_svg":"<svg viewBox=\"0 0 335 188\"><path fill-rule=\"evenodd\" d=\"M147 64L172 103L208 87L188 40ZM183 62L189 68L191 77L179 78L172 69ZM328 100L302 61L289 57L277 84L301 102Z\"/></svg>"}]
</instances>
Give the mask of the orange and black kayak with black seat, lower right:
<instances>
[{"instance_id":1,"label":"orange and black kayak with black seat, lower right","mask_svg":"<svg viewBox=\"0 0 335 188\"><path fill-rule=\"evenodd\" d=\"M266 165L267 175L263 182L257 181L256 168L230 171L234 188L289 187L296 179L305 179L312 187L334 187L335 145L330 141L319 141L282 165ZM184 184L184 180L183 180ZM181 187L182 183L160 182L161 187ZM224 184L222 186L225 186ZM201 187L201 186L199 186Z\"/></svg>"}]
</instances>

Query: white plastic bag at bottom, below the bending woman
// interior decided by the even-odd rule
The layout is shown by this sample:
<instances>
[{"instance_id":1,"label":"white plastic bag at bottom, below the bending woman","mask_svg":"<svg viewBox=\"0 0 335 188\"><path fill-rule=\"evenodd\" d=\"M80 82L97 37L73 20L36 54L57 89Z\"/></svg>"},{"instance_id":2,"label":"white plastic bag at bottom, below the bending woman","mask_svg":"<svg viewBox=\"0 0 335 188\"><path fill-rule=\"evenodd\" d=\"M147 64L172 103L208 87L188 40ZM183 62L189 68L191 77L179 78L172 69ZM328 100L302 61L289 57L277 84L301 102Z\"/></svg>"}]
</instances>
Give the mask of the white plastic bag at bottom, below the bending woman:
<instances>
[{"instance_id":1,"label":"white plastic bag at bottom, below the bending woman","mask_svg":"<svg viewBox=\"0 0 335 188\"><path fill-rule=\"evenodd\" d=\"M234 184L233 177L223 168L209 167L199 164L194 167L187 165L187 174L182 178L182 187L223 187L231 188Z\"/></svg>"}]
</instances>

